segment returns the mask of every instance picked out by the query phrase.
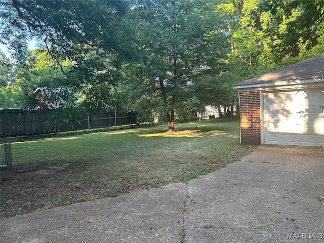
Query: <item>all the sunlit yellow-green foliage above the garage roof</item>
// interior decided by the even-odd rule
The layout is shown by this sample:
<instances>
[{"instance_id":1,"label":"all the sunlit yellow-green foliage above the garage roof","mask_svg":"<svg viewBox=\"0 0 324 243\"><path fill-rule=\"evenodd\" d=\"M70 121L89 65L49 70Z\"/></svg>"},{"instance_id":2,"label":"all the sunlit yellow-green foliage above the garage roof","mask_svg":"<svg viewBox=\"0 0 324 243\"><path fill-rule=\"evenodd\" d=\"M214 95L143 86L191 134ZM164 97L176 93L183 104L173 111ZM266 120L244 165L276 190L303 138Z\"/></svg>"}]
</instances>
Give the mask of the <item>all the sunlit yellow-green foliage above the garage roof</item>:
<instances>
[{"instance_id":1,"label":"all the sunlit yellow-green foliage above the garage roof","mask_svg":"<svg viewBox=\"0 0 324 243\"><path fill-rule=\"evenodd\" d=\"M323 53L323 1L223 0L215 12L227 22L237 82Z\"/></svg>"}]
</instances>

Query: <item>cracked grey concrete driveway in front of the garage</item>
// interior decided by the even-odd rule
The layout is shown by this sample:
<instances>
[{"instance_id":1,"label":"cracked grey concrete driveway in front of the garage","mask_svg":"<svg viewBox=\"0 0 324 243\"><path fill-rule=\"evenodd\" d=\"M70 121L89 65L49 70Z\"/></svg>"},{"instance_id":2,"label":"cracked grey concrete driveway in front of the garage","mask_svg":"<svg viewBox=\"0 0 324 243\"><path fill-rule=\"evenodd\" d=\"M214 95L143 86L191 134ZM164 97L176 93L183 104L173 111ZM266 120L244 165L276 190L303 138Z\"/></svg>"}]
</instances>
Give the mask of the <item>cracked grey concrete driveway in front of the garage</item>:
<instances>
[{"instance_id":1,"label":"cracked grey concrete driveway in front of the garage","mask_svg":"<svg viewBox=\"0 0 324 243\"><path fill-rule=\"evenodd\" d=\"M324 149L260 146L214 173L1 220L0 242L324 242Z\"/></svg>"}]
</instances>

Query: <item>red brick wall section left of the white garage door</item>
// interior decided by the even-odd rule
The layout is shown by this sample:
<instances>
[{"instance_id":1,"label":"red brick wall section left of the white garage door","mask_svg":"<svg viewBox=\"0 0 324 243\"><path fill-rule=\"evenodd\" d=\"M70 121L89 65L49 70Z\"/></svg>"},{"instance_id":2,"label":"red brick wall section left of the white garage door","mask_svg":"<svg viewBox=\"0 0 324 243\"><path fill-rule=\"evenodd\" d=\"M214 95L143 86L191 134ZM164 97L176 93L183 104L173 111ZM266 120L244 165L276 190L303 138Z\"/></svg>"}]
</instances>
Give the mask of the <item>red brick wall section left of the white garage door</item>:
<instances>
[{"instance_id":1,"label":"red brick wall section left of the white garage door","mask_svg":"<svg viewBox=\"0 0 324 243\"><path fill-rule=\"evenodd\" d=\"M260 91L239 92L241 144L261 144Z\"/></svg>"}]
</instances>

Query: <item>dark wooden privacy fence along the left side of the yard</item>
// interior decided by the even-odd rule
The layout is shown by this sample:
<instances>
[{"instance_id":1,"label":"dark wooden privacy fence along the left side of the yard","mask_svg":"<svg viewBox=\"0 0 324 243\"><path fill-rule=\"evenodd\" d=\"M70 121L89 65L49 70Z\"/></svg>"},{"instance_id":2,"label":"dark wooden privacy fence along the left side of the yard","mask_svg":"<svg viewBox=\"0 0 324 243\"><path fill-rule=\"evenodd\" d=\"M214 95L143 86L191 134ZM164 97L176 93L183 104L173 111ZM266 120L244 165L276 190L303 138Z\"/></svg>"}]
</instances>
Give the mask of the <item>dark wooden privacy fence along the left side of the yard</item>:
<instances>
[{"instance_id":1,"label":"dark wooden privacy fence along the left side of the yard","mask_svg":"<svg viewBox=\"0 0 324 243\"><path fill-rule=\"evenodd\" d=\"M49 115L30 109L0 110L0 138L136 124L136 113L116 112L114 109L98 114L83 114L79 124L62 121L54 126L46 122Z\"/></svg>"}]
</instances>

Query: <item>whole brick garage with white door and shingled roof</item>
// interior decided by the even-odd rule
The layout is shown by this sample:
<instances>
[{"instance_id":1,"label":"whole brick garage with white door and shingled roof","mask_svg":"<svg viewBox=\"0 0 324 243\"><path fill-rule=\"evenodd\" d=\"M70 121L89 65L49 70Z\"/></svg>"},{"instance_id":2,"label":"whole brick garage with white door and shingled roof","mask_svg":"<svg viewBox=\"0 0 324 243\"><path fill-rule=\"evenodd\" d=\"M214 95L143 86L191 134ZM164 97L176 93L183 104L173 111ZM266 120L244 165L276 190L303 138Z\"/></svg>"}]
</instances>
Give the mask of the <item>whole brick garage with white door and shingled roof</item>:
<instances>
[{"instance_id":1,"label":"whole brick garage with white door and shingled roof","mask_svg":"<svg viewBox=\"0 0 324 243\"><path fill-rule=\"evenodd\" d=\"M234 85L241 144L324 146L324 54Z\"/></svg>"}]
</instances>

